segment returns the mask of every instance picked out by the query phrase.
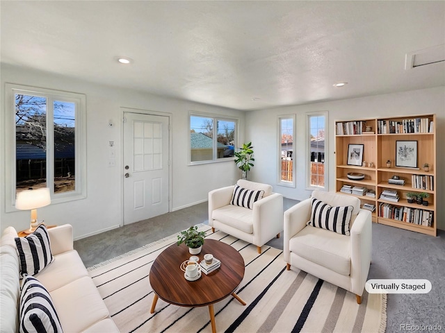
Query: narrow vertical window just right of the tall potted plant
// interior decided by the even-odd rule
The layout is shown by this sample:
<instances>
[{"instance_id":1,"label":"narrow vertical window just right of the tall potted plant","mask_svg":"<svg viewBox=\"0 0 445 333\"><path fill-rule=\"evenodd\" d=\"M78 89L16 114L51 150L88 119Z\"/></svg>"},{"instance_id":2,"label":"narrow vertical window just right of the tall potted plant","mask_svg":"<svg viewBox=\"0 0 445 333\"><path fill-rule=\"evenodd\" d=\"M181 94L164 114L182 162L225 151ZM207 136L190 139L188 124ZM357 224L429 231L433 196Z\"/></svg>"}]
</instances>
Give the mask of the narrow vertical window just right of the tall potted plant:
<instances>
[{"instance_id":1,"label":"narrow vertical window just right of the tall potted plant","mask_svg":"<svg viewBox=\"0 0 445 333\"><path fill-rule=\"evenodd\" d=\"M278 184L295 187L294 142L295 115L278 117Z\"/></svg>"}]
</instances>

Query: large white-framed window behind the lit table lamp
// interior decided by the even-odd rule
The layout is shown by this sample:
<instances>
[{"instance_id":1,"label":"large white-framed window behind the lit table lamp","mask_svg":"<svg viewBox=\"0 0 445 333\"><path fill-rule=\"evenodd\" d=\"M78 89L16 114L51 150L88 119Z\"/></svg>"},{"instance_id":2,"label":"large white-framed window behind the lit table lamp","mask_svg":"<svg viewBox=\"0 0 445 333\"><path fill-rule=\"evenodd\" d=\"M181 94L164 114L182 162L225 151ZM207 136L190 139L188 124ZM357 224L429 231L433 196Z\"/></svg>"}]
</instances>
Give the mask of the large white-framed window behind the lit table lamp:
<instances>
[{"instance_id":1,"label":"large white-framed window behind the lit table lamp","mask_svg":"<svg viewBox=\"0 0 445 333\"><path fill-rule=\"evenodd\" d=\"M85 96L19 85L6 91L11 205L30 187L49 187L51 202L85 197Z\"/></svg>"}]
</instances>

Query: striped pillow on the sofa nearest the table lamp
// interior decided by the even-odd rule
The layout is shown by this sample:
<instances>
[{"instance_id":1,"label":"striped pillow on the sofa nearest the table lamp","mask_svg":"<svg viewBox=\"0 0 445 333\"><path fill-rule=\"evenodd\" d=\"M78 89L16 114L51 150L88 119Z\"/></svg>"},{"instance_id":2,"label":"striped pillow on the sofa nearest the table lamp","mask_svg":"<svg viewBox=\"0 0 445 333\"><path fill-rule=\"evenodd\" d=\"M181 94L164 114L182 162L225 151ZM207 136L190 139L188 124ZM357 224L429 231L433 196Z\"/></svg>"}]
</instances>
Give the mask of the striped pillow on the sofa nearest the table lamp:
<instances>
[{"instance_id":1,"label":"striped pillow on the sofa nearest the table lamp","mask_svg":"<svg viewBox=\"0 0 445 333\"><path fill-rule=\"evenodd\" d=\"M21 275L35 275L54 261L48 231L44 225L39 225L35 232L26 237L16 237L15 244Z\"/></svg>"}]
</instances>

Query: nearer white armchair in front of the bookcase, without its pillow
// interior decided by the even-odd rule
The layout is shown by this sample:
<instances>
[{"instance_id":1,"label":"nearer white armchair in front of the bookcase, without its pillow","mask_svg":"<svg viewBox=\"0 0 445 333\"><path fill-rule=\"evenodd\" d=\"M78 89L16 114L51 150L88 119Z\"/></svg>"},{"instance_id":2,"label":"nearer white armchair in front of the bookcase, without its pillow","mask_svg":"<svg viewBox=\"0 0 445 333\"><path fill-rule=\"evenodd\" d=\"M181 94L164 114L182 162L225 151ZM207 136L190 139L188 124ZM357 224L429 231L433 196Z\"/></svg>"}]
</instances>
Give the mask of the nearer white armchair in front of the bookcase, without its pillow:
<instances>
[{"instance_id":1,"label":"nearer white armchair in front of the bookcase, without its pillow","mask_svg":"<svg viewBox=\"0 0 445 333\"><path fill-rule=\"evenodd\" d=\"M350 235L307 225L311 219L312 198L331 206L353 206ZM360 209L360 200L353 196L316 190L312 198L284 212L286 268L289 271L295 266L355 293L360 304L371 264L371 212Z\"/></svg>"}]
</instances>

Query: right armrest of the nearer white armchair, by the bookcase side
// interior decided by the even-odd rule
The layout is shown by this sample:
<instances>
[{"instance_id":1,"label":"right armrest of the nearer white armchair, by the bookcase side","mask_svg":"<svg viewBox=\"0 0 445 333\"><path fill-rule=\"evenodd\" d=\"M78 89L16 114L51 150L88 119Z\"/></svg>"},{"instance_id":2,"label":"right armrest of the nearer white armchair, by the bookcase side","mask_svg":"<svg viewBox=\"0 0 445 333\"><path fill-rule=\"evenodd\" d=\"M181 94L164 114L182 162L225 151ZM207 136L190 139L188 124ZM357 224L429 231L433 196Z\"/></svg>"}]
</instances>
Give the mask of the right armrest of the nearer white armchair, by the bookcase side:
<instances>
[{"instance_id":1,"label":"right armrest of the nearer white armchair, by the bookcase side","mask_svg":"<svg viewBox=\"0 0 445 333\"><path fill-rule=\"evenodd\" d=\"M372 220L369 210L359 210L350 230L351 287L361 296L368 278L372 254Z\"/></svg>"}]
</instances>

